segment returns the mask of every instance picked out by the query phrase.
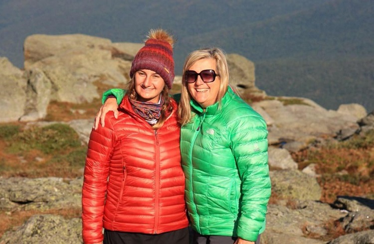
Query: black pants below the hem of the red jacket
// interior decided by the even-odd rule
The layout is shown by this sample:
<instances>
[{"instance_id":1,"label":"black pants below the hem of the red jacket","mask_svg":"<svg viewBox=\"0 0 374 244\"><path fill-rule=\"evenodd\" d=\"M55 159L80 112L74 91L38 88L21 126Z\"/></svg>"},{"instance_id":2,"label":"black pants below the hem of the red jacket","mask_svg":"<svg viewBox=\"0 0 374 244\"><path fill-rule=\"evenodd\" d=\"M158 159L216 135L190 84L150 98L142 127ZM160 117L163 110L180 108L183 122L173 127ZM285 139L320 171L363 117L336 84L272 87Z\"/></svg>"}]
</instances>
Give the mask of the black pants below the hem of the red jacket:
<instances>
[{"instance_id":1,"label":"black pants below the hem of the red jacket","mask_svg":"<svg viewBox=\"0 0 374 244\"><path fill-rule=\"evenodd\" d=\"M161 234L104 230L104 244L189 244L188 227Z\"/></svg>"}]
</instances>

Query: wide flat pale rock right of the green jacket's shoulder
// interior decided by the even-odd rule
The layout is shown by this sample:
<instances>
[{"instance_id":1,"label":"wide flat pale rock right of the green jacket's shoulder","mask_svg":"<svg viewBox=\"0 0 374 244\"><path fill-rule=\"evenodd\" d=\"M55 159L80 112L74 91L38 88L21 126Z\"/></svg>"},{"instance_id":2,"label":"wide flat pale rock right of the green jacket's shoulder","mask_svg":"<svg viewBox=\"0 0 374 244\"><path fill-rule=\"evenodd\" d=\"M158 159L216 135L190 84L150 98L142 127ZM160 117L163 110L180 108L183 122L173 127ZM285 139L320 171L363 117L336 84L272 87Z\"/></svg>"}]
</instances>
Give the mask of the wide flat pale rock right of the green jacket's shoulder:
<instances>
[{"instance_id":1,"label":"wide flat pale rock right of the green jacket's shoulder","mask_svg":"<svg viewBox=\"0 0 374 244\"><path fill-rule=\"evenodd\" d=\"M287 101L296 103L286 105ZM254 106L261 107L274 121L268 128L269 144L282 144L292 152L324 138L347 138L360 129L356 117L326 110L309 99L282 97L256 102Z\"/></svg>"}]
</instances>

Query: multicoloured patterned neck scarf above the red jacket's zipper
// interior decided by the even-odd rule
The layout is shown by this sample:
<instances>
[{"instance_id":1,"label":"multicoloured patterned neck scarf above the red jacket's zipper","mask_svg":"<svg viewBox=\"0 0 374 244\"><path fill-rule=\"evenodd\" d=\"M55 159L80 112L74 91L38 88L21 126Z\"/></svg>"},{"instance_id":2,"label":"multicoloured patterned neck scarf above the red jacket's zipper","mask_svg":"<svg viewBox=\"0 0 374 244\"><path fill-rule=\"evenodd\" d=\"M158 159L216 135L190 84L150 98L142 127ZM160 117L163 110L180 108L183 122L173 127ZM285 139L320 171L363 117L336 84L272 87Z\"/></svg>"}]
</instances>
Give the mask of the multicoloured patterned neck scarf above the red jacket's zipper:
<instances>
[{"instance_id":1,"label":"multicoloured patterned neck scarf above the red jacket's zipper","mask_svg":"<svg viewBox=\"0 0 374 244\"><path fill-rule=\"evenodd\" d=\"M139 102L137 100L129 98L131 106L135 113L140 115L143 119L145 119L150 124L155 124L160 119L161 116L161 109L164 105L164 99L160 98L159 103L147 103L147 102Z\"/></svg>"}]
</instances>

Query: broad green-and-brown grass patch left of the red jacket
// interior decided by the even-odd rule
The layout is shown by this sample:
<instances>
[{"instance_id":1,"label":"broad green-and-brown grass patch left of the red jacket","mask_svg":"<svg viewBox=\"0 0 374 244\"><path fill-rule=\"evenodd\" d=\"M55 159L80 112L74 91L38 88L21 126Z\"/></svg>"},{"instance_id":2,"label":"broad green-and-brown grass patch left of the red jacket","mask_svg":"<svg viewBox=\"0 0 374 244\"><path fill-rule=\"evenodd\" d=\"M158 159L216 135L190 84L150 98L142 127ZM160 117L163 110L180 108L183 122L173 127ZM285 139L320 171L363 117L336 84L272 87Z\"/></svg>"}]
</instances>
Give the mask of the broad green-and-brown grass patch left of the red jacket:
<instances>
[{"instance_id":1,"label":"broad green-and-brown grass patch left of the red jacket","mask_svg":"<svg viewBox=\"0 0 374 244\"><path fill-rule=\"evenodd\" d=\"M2 177L74 178L82 175L87 148L72 128L66 124L28 129L23 126L0 125Z\"/></svg>"}]
</instances>

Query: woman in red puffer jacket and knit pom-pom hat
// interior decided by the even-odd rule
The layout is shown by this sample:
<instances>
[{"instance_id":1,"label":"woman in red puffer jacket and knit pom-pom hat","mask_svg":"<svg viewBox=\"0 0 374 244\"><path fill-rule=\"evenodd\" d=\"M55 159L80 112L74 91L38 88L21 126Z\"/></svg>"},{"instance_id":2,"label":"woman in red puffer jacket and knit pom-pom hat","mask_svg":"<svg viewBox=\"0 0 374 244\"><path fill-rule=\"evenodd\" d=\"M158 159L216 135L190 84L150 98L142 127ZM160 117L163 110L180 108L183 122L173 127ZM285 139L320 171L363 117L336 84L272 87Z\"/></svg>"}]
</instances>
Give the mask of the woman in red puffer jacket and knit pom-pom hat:
<instances>
[{"instance_id":1,"label":"woman in red puffer jacket and knit pom-pom hat","mask_svg":"<svg viewBox=\"0 0 374 244\"><path fill-rule=\"evenodd\" d=\"M85 244L188 244L174 39L151 30L118 110L93 129L82 188ZM102 233L104 229L104 234Z\"/></svg>"}]
</instances>

